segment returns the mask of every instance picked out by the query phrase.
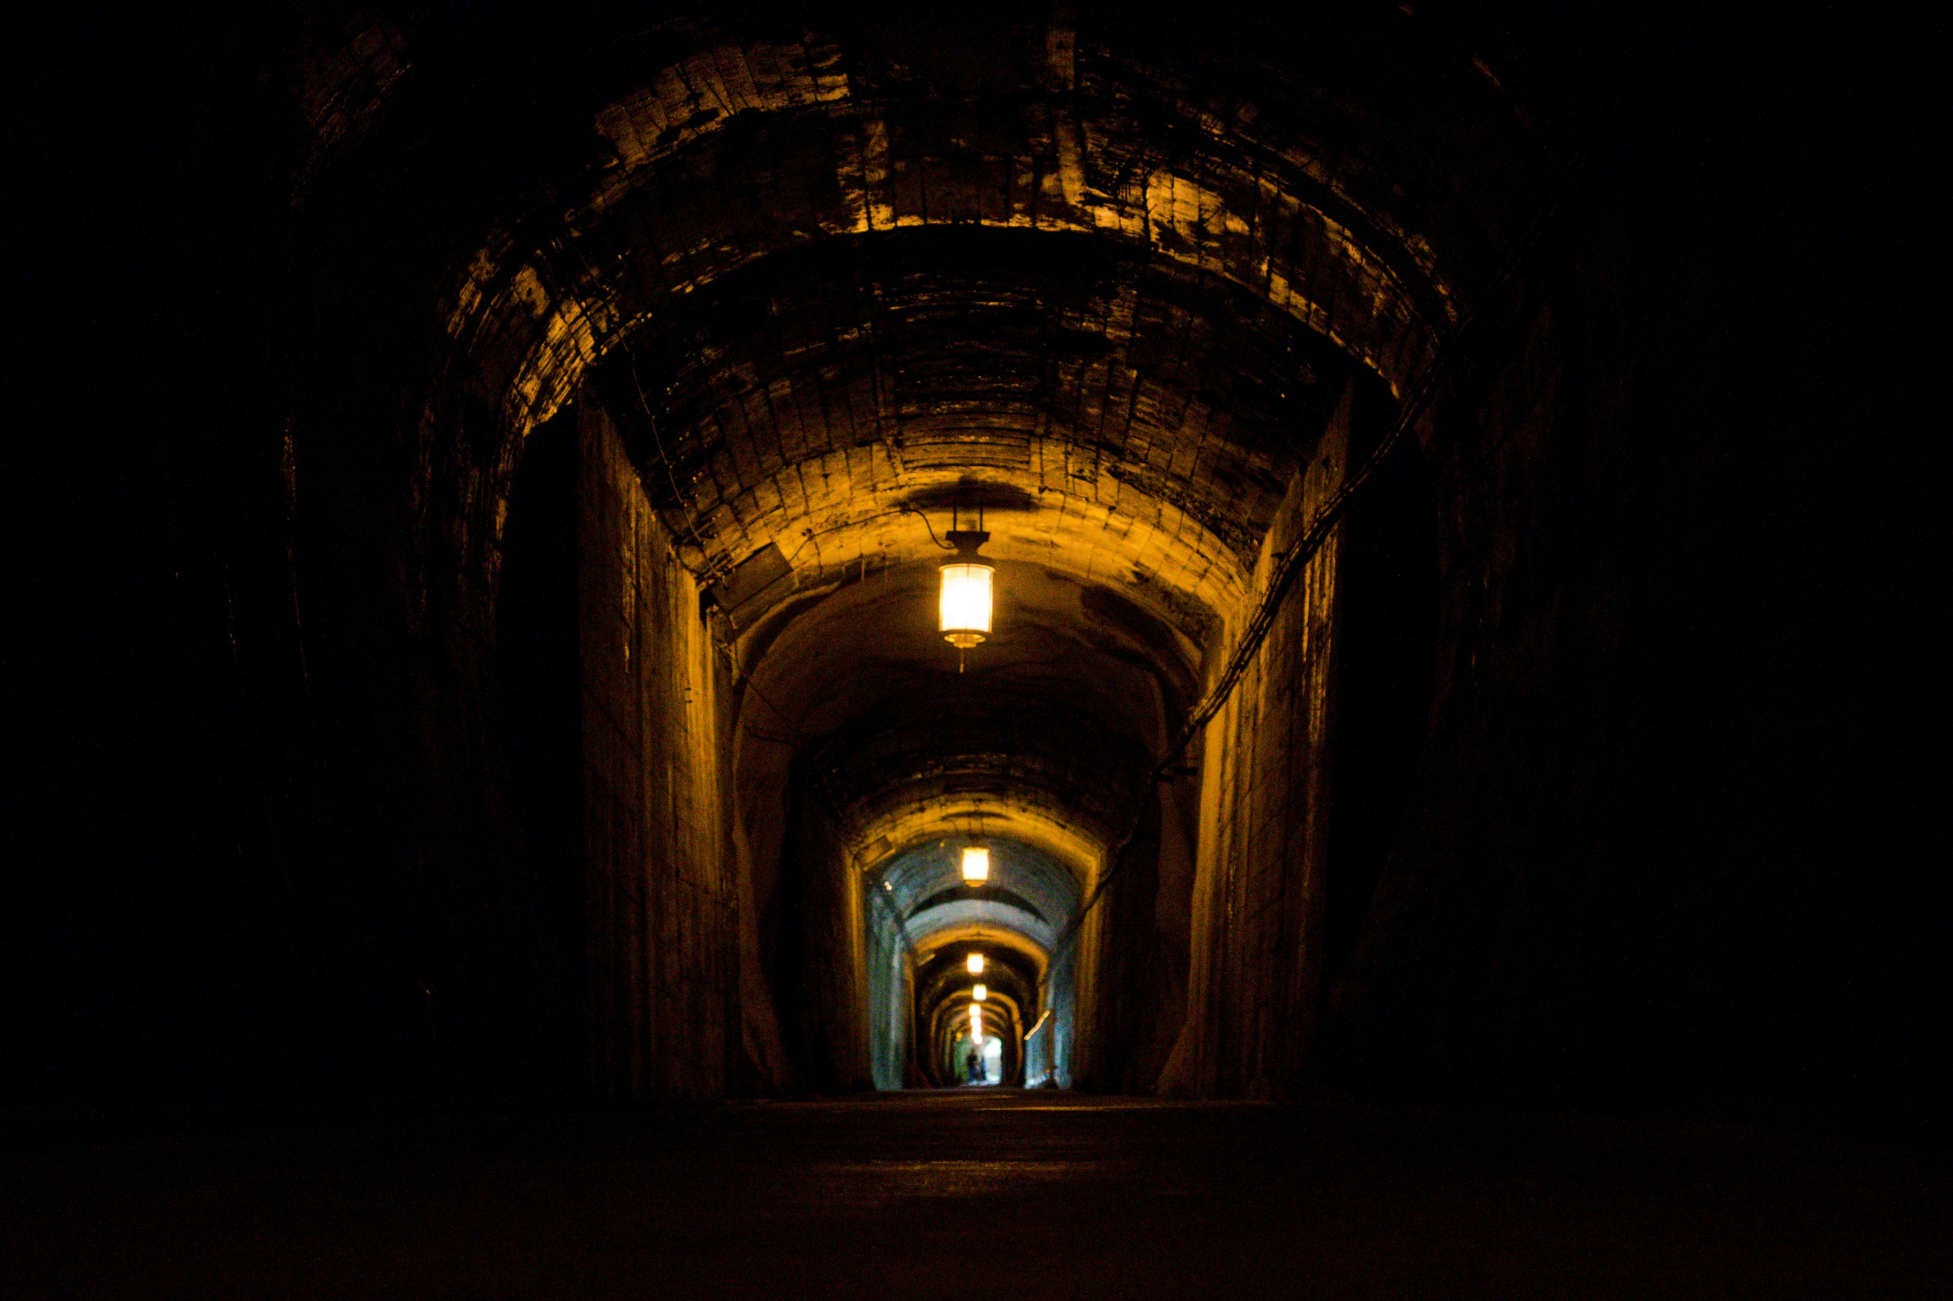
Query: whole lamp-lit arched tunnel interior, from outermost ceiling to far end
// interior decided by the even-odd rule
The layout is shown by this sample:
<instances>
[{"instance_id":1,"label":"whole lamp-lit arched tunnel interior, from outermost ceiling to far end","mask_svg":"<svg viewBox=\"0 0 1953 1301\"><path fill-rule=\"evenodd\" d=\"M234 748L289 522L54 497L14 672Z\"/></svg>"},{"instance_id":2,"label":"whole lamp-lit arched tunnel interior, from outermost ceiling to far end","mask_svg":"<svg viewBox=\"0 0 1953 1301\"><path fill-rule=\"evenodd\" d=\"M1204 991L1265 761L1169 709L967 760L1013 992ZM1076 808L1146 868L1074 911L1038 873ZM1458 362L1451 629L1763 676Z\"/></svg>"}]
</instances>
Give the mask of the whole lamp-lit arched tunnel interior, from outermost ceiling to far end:
<instances>
[{"instance_id":1,"label":"whole lamp-lit arched tunnel interior, from outermost ceiling to far end","mask_svg":"<svg viewBox=\"0 0 1953 1301\"><path fill-rule=\"evenodd\" d=\"M727 1053L941 1086L984 1014L1012 1080L1299 1078L1332 891L1359 916L1381 867L1330 865L1338 693L1381 756L1346 840L1396 815L1432 697L1418 385L1566 158L1461 88L1531 180L1447 209L1441 264L1400 182L1340 193L1273 143L1301 119L1217 135L1123 53L1080 72L1070 21L928 74L900 27L664 33L578 197L455 285L428 490L478 539L471 617L561 645L494 670L512 709L578 701L531 721L582 764L535 844L582 858L603 1088L713 1092ZM994 608L949 645L957 537ZM978 940L973 1022L937 965Z\"/></svg>"}]
</instances>

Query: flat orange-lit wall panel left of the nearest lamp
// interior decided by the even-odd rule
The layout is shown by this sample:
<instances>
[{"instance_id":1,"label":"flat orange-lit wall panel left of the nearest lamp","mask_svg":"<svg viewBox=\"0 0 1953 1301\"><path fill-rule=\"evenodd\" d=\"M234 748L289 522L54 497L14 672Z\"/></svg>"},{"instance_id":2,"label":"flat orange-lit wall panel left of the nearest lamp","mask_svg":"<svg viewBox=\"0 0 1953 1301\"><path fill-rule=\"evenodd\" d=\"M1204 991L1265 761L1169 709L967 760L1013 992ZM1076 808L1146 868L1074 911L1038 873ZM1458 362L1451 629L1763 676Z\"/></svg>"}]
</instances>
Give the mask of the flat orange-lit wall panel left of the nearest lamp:
<instances>
[{"instance_id":1,"label":"flat orange-lit wall panel left of the nearest lamp","mask_svg":"<svg viewBox=\"0 0 1953 1301\"><path fill-rule=\"evenodd\" d=\"M717 1098L738 1045L727 670L609 418L580 416L592 1078Z\"/></svg>"}]
</instances>

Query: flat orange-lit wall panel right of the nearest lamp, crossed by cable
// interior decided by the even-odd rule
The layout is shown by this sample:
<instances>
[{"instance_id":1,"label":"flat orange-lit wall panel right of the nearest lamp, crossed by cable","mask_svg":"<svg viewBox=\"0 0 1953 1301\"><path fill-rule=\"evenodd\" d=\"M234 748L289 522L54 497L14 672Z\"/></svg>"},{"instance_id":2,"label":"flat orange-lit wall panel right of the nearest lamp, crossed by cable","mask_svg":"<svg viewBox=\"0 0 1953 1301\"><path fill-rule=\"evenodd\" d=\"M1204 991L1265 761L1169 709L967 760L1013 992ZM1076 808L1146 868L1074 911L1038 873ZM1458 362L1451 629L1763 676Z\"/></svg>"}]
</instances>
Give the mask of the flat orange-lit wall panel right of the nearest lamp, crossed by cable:
<instances>
[{"instance_id":1,"label":"flat orange-lit wall panel right of the nearest lamp, crossed by cable","mask_svg":"<svg viewBox=\"0 0 1953 1301\"><path fill-rule=\"evenodd\" d=\"M1348 469L1346 391L1275 516L1256 588ZM1330 688L1340 529L1283 602L1226 707L1207 729L1193 973L1184 1043L1162 1088L1201 1096L1293 1090L1320 1006L1320 916L1330 815Z\"/></svg>"}]
</instances>

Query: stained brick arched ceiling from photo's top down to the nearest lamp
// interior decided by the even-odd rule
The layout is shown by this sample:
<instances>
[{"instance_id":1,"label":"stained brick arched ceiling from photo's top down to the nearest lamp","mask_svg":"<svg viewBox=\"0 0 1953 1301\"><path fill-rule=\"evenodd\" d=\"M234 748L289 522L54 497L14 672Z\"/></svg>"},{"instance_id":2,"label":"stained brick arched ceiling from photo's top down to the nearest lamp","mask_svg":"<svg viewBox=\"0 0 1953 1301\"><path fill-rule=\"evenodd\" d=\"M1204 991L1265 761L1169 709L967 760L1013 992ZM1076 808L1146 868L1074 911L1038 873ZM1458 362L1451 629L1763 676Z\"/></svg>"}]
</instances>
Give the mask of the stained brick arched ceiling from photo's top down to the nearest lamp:
<instances>
[{"instance_id":1,"label":"stained brick arched ceiling from photo's top down to the nearest lamp","mask_svg":"<svg viewBox=\"0 0 1953 1301\"><path fill-rule=\"evenodd\" d=\"M975 473L1037 504L994 555L1226 611L1322 389L1414 375L1541 191L1482 64L1363 37L1396 16L1267 49L810 14L611 41L562 215L490 238L447 315L445 373L518 434L598 381L707 580L912 563L898 506Z\"/></svg>"}]
</instances>

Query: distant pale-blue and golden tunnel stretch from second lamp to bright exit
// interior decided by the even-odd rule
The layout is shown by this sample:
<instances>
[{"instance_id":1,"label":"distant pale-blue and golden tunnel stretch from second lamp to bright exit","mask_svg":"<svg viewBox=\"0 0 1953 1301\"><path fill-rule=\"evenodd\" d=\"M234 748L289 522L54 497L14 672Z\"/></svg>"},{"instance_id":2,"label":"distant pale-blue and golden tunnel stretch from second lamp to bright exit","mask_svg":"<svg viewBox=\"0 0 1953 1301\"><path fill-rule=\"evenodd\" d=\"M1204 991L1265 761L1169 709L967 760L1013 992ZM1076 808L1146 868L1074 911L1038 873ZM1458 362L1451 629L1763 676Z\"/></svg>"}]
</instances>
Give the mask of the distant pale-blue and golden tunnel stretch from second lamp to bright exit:
<instances>
[{"instance_id":1,"label":"distant pale-blue and golden tunnel stretch from second lamp to bright exit","mask_svg":"<svg viewBox=\"0 0 1953 1301\"><path fill-rule=\"evenodd\" d=\"M1068 1086L1080 873L1008 836L990 871L928 840L869 869L869 1047L877 1088Z\"/></svg>"}]
</instances>

